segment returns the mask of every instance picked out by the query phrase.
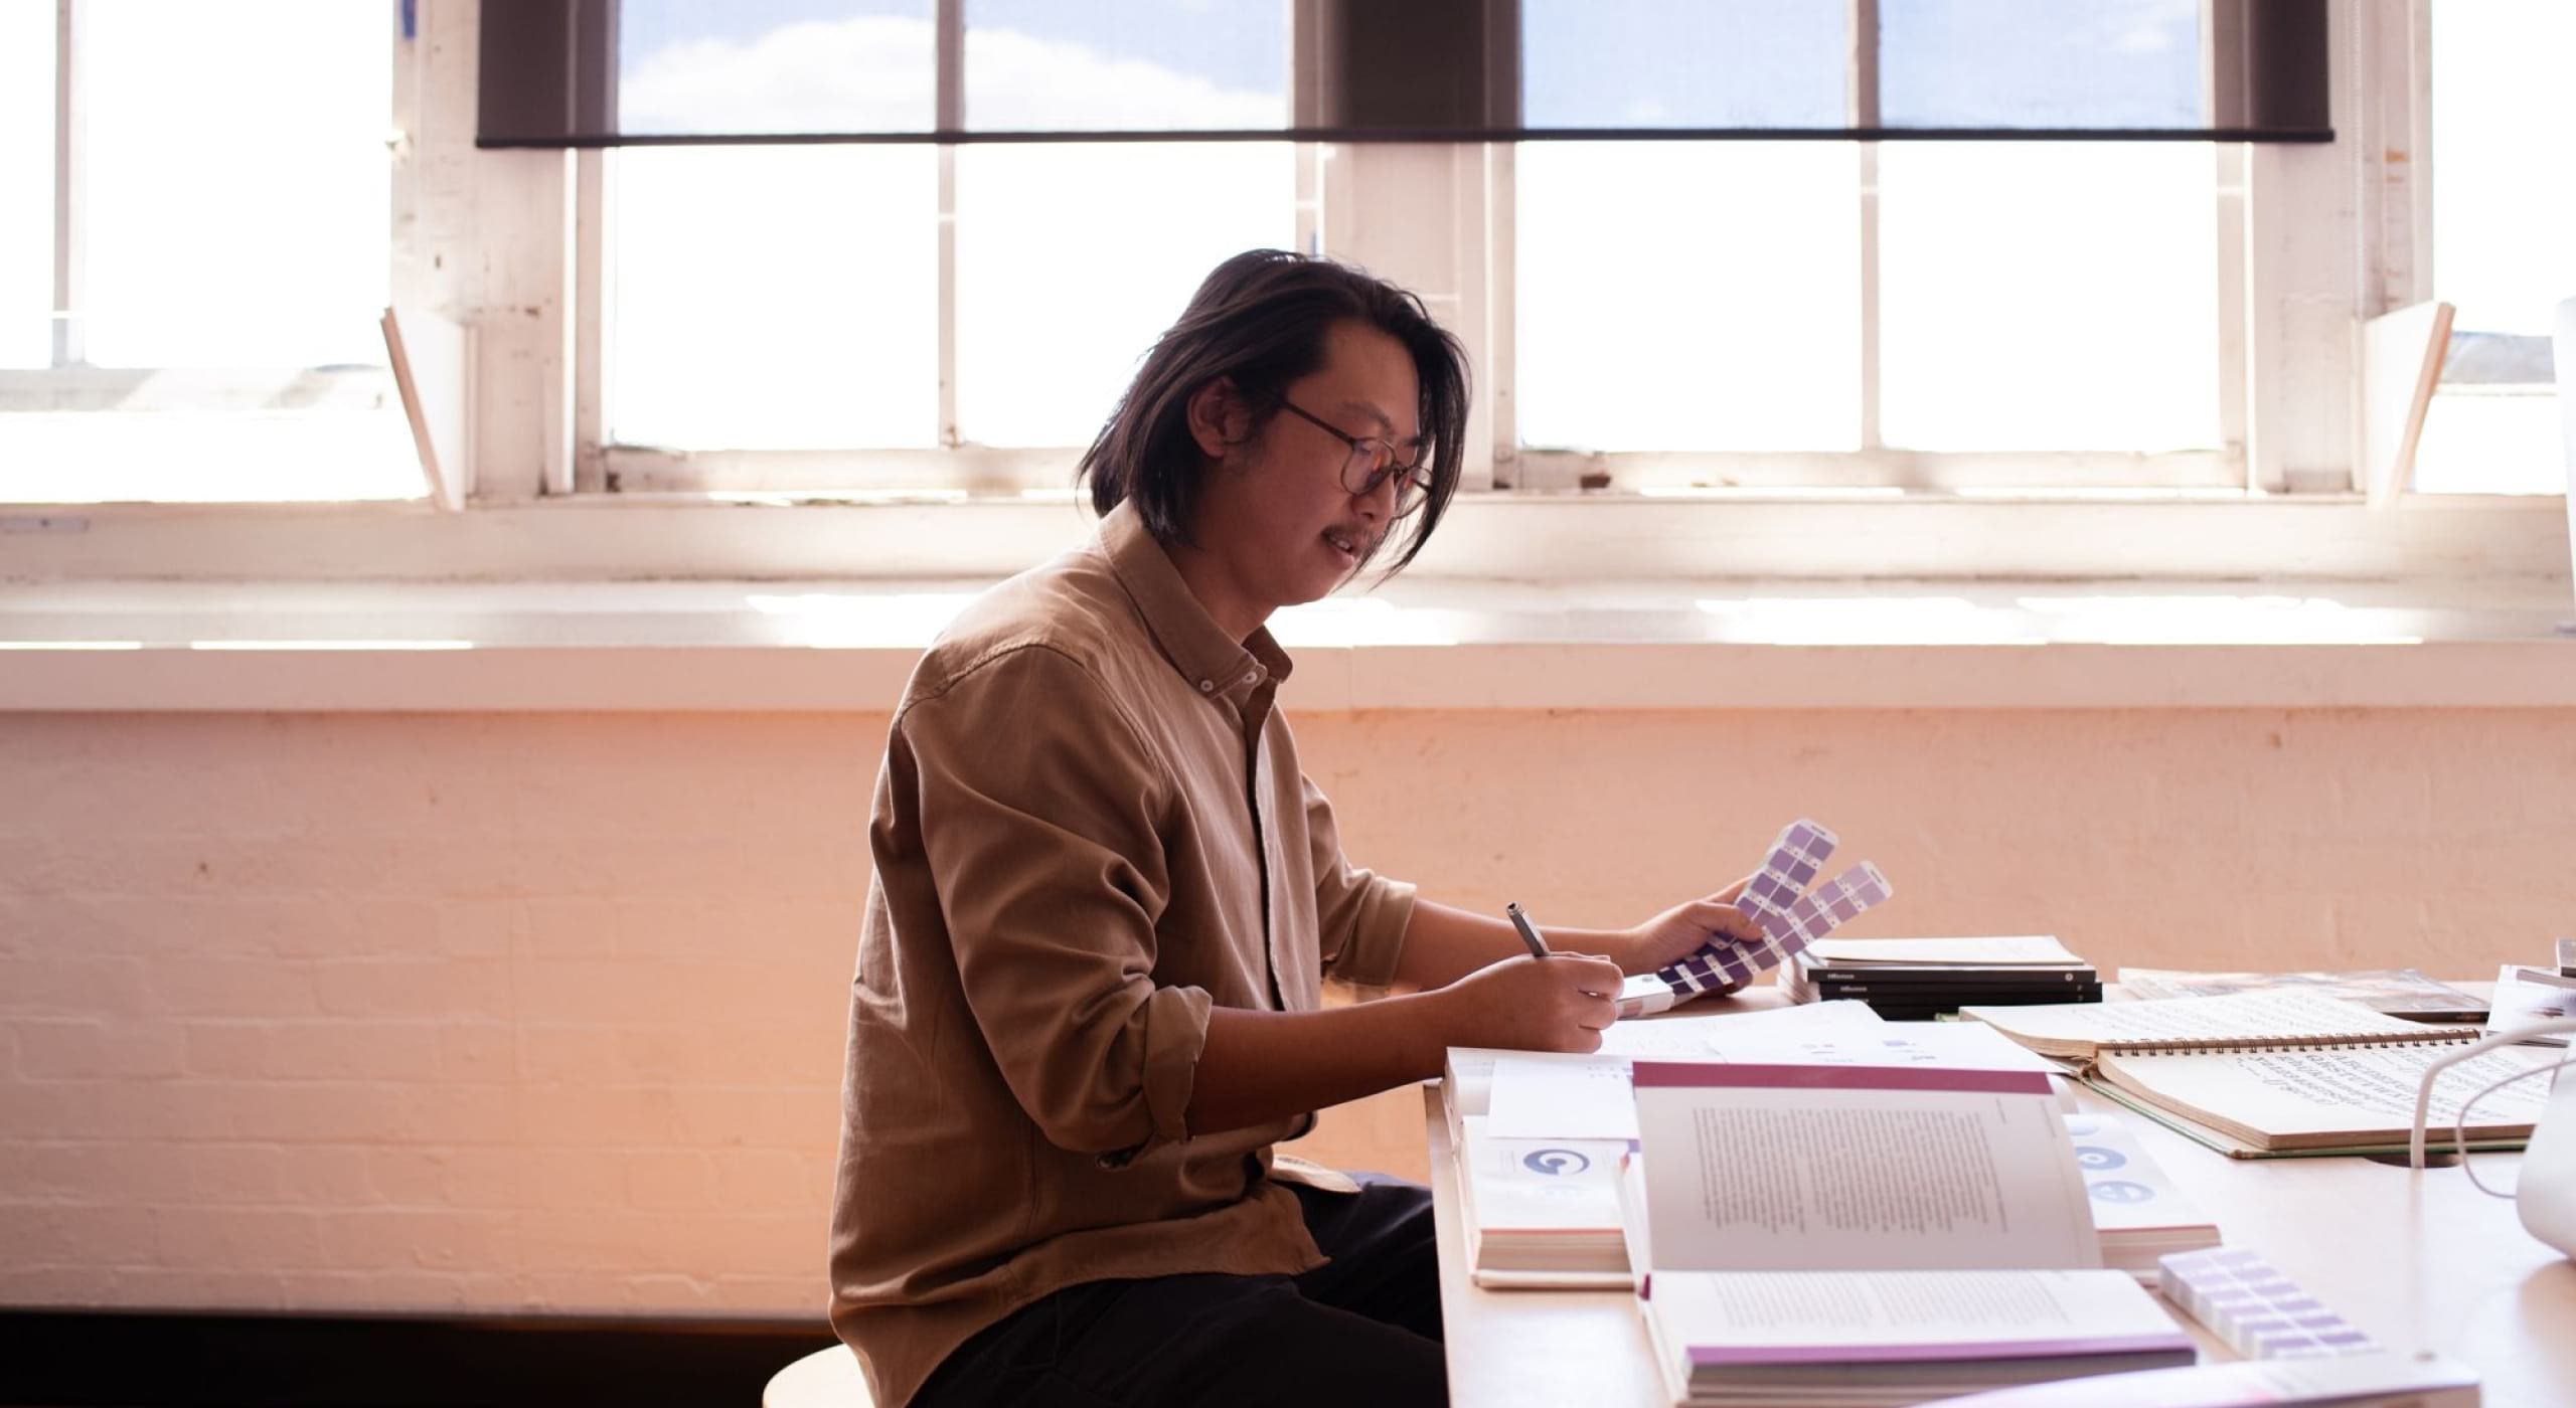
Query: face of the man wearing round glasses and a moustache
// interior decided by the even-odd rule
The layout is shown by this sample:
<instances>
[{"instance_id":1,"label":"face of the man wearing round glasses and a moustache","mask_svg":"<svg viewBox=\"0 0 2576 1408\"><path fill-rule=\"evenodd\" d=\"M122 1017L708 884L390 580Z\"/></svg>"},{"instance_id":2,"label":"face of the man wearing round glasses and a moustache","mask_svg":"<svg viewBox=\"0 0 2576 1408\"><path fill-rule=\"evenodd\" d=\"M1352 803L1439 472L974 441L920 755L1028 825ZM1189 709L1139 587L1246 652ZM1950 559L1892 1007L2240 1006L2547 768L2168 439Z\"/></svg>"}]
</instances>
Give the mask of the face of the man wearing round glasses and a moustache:
<instances>
[{"instance_id":1,"label":"face of the man wearing round glasses and a moustache","mask_svg":"<svg viewBox=\"0 0 2576 1408\"><path fill-rule=\"evenodd\" d=\"M1288 402L1342 435L1394 440L1399 461L1419 453L1414 358L1365 322L1327 329L1324 366L1293 381ZM1260 615L1332 595L1394 528L1396 476L1352 494L1352 448L1324 425L1283 409L1244 456L1208 466L1198 548Z\"/></svg>"}]
</instances>

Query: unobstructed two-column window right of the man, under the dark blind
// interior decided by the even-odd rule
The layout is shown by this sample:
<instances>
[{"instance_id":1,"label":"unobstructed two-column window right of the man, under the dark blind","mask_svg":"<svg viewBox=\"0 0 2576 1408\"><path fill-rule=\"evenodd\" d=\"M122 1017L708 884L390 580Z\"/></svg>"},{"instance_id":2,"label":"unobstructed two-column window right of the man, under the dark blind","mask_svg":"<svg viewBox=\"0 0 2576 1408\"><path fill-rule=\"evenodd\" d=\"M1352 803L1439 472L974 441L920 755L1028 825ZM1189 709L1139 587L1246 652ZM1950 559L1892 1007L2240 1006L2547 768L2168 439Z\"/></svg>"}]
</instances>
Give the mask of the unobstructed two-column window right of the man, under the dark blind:
<instances>
[{"instance_id":1,"label":"unobstructed two-column window right of the man, under the dark blind","mask_svg":"<svg viewBox=\"0 0 2576 1408\"><path fill-rule=\"evenodd\" d=\"M2202 103L2195 0L1888 0L1860 54L1826 5L1522 15L1533 126L2159 129ZM1540 468L1584 450L1625 486L2244 481L2205 144L1566 142L1515 162L1512 386Z\"/></svg>"}]
</instances>

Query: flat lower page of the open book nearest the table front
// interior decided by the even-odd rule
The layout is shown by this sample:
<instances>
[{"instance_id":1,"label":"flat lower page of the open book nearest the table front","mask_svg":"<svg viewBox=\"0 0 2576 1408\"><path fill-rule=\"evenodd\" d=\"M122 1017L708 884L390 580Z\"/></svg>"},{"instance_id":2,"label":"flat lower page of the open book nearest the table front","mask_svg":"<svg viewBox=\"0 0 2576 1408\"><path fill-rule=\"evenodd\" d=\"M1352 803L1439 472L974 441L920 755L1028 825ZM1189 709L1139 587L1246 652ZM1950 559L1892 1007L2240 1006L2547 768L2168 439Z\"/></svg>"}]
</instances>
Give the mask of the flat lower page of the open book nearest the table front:
<instances>
[{"instance_id":1,"label":"flat lower page of the open book nearest the table front","mask_svg":"<svg viewBox=\"0 0 2576 1408\"><path fill-rule=\"evenodd\" d=\"M1695 1364L1816 1362L1860 1349L1991 1354L2187 1351L2190 1336L2125 1272L1656 1272L1646 1300ZM1899 1357L1899 1354L1886 1354ZM1873 1354L1878 1359L1878 1354ZM1747 1359L1752 1362L1752 1359Z\"/></svg>"}]
</instances>

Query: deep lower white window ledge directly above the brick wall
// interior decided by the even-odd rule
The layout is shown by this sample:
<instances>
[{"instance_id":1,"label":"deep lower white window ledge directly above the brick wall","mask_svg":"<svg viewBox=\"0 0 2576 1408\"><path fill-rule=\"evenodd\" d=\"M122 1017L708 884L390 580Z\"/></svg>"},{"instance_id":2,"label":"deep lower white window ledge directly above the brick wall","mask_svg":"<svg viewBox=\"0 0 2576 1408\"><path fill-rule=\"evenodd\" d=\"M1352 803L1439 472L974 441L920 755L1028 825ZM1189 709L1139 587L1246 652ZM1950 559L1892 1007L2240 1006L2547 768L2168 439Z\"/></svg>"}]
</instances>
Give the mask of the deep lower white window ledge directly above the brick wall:
<instances>
[{"instance_id":1,"label":"deep lower white window ledge directly above the brick wall","mask_svg":"<svg viewBox=\"0 0 2576 1408\"><path fill-rule=\"evenodd\" d=\"M884 710L976 584L0 587L0 710ZM1298 710L2576 708L2563 579L1396 582Z\"/></svg>"}]
</instances>

